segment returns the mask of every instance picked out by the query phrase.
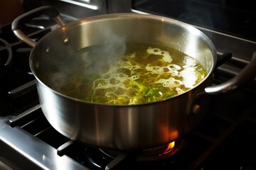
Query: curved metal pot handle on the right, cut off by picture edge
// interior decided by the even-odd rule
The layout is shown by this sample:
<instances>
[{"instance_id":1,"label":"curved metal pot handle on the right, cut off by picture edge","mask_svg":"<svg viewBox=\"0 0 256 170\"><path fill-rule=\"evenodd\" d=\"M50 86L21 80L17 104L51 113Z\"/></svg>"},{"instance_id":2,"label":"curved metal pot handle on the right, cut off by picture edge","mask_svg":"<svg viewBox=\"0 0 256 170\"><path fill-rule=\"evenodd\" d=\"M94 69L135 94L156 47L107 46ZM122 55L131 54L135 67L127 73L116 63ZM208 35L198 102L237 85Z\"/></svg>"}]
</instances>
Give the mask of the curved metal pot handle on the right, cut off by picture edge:
<instances>
[{"instance_id":1,"label":"curved metal pot handle on the right, cut off by picture edge","mask_svg":"<svg viewBox=\"0 0 256 170\"><path fill-rule=\"evenodd\" d=\"M256 51L253 52L252 59L239 74L223 84L206 87L206 94L224 94L244 86L256 77Z\"/></svg>"}]
</instances>

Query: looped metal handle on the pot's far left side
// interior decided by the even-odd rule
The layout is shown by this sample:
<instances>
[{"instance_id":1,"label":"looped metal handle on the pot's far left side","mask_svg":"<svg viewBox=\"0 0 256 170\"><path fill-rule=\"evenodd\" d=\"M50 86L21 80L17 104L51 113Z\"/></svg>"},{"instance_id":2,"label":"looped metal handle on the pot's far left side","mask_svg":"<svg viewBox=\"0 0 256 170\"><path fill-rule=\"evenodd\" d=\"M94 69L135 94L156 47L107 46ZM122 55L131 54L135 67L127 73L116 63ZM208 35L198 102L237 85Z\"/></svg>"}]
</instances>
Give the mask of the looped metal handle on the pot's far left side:
<instances>
[{"instance_id":1,"label":"looped metal handle on the pot's far left side","mask_svg":"<svg viewBox=\"0 0 256 170\"><path fill-rule=\"evenodd\" d=\"M39 8L35 8L27 13L23 13L21 16L18 16L11 24L11 30L13 30L14 34L23 42L34 47L36 45L36 41L28 38L22 31L21 31L21 23L26 23L33 18L36 18L40 15L48 15L53 18L59 26L65 25L65 20L60 16L60 13L53 8L53 6L42 6Z\"/></svg>"}]
</instances>

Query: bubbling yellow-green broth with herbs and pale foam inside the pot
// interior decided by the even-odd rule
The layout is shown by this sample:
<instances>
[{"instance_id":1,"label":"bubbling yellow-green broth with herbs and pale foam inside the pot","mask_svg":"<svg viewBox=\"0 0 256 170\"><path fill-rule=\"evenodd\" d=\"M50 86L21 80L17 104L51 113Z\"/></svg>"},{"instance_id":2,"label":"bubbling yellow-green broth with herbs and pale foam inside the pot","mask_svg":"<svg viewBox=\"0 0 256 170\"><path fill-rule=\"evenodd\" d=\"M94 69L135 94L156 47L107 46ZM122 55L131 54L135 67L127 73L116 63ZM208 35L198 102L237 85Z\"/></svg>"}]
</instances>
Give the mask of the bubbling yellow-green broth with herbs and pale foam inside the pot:
<instances>
[{"instance_id":1,"label":"bubbling yellow-green broth with herbs and pale foam inside the pot","mask_svg":"<svg viewBox=\"0 0 256 170\"><path fill-rule=\"evenodd\" d=\"M182 94L207 75L197 60L170 47L127 43L124 50L112 54L105 46L85 47L66 57L43 81L73 98L132 105Z\"/></svg>"}]
</instances>

